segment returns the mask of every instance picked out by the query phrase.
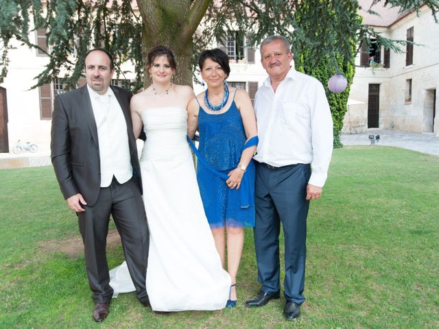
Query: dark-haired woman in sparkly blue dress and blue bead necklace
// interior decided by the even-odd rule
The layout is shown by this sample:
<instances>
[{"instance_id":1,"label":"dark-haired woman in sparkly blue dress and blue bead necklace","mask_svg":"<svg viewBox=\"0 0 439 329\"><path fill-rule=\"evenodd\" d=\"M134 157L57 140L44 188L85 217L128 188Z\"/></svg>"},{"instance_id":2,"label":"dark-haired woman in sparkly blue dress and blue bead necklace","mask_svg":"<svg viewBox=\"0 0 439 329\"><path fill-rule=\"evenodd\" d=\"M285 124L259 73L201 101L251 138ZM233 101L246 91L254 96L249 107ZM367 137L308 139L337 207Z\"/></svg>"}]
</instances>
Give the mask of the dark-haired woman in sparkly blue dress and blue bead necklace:
<instances>
[{"instance_id":1,"label":"dark-haired woman in sparkly blue dress and blue bead necklace","mask_svg":"<svg viewBox=\"0 0 439 329\"><path fill-rule=\"evenodd\" d=\"M246 90L227 86L230 66L226 53L203 51L198 64L207 89L189 102L188 136L200 132L198 185L224 268L227 249L227 271L232 279L227 306L233 307L244 227L254 226L252 156L257 125Z\"/></svg>"}]
</instances>

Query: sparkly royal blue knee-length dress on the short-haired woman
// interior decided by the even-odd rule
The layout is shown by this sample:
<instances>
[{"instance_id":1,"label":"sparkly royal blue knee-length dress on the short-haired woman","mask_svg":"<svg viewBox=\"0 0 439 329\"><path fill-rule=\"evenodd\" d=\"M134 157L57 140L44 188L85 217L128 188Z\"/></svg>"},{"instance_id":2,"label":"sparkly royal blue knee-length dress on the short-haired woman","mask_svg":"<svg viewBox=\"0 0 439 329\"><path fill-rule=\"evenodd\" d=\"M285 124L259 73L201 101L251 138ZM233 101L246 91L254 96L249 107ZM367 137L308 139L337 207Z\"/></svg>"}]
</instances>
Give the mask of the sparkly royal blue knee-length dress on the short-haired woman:
<instances>
[{"instance_id":1,"label":"sparkly royal blue knee-length dress on the short-haired woman","mask_svg":"<svg viewBox=\"0 0 439 329\"><path fill-rule=\"evenodd\" d=\"M226 174L235 169L246 143L246 132L235 100L222 114L209 114L200 106L198 130L198 151L206 162ZM244 175L248 175L250 191L254 195L254 165L249 165ZM197 165L197 179L211 228L254 226L254 204L241 208L239 190L230 189L222 178L200 162Z\"/></svg>"}]
</instances>

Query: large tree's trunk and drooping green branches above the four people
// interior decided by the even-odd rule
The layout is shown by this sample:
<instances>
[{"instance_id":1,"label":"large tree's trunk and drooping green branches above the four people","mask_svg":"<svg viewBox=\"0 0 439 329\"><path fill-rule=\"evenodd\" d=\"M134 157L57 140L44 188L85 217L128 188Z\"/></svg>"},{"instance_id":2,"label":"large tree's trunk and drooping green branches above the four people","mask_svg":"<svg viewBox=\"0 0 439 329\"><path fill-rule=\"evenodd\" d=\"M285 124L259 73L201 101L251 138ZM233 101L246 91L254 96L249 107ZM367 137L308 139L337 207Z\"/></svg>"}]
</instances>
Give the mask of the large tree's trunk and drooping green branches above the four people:
<instances>
[{"instance_id":1,"label":"large tree's trunk and drooping green branches above the four people","mask_svg":"<svg viewBox=\"0 0 439 329\"><path fill-rule=\"evenodd\" d=\"M427 5L434 15L439 10L436 0L372 1L378 2L416 11ZM115 54L117 67L132 61L134 90L147 82L144 58L150 47L171 47L179 64L177 82L191 84L193 58L228 28L251 31L252 44L269 34L283 34L292 41L296 60L309 51L311 66L329 58L327 63L337 67L336 56L353 63L358 49L352 51L351 42L359 45L370 36L396 51L405 42L391 42L361 25L356 0L0 0L0 8L0 83L8 69L10 41L15 38L38 48L29 38L34 29L46 30L50 46L49 63L36 86L51 82L60 71L73 86L82 74L87 49L104 47ZM208 28L195 32L203 17Z\"/></svg>"}]
</instances>

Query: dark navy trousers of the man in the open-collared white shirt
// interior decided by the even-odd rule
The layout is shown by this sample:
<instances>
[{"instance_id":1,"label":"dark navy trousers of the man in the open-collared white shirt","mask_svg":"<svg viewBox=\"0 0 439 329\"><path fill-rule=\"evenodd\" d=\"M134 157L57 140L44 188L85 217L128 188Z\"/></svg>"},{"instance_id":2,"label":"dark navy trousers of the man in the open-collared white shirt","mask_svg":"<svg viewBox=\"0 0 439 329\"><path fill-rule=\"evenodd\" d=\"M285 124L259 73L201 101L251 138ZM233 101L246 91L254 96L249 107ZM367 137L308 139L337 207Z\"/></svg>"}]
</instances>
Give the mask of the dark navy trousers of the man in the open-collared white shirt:
<instances>
[{"instance_id":1,"label":"dark navy trousers of the man in the open-collared white shirt","mask_svg":"<svg viewBox=\"0 0 439 329\"><path fill-rule=\"evenodd\" d=\"M285 236L284 295L287 302L302 304L305 282L307 215L305 199L311 175L309 164L270 169L257 162L254 245L261 291L279 295L279 234Z\"/></svg>"}]
</instances>

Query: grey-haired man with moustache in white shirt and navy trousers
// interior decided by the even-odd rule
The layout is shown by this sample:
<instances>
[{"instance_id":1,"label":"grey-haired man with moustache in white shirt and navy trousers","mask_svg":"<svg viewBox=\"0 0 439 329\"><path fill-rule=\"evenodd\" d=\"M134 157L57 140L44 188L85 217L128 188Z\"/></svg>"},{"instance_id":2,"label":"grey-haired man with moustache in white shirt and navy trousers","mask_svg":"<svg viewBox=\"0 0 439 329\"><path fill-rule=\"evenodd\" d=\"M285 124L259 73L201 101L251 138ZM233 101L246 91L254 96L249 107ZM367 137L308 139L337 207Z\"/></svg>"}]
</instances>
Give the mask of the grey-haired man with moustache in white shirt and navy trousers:
<instances>
[{"instance_id":1,"label":"grey-haired man with moustache in white shirt and navy trousers","mask_svg":"<svg viewBox=\"0 0 439 329\"><path fill-rule=\"evenodd\" d=\"M305 282L309 200L322 195L333 149L331 110L322 84L290 66L293 55L283 36L261 43L268 78L254 101L259 144L256 173L254 245L261 291L248 307L280 295L278 236L285 236L286 319L300 315Z\"/></svg>"}]
</instances>

